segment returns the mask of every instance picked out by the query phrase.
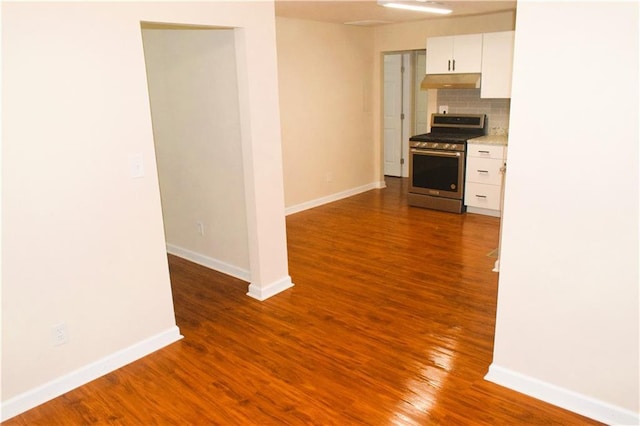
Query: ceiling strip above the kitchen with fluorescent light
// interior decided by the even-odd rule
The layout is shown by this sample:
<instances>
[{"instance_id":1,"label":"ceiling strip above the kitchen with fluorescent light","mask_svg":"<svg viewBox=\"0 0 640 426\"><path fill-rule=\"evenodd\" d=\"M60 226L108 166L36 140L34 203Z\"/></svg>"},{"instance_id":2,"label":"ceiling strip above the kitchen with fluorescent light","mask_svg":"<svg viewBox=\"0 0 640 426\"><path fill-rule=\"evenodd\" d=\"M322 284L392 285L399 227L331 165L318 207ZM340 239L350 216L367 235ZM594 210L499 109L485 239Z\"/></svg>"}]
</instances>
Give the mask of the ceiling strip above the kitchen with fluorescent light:
<instances>
[{"instance_id":1,"label":"ceiling strip above the kitchen with fluorescent light","mask_svg":"<svg viewBox=\"0 0 640 426\"><path fill-rule=\"evenodd\" d=\"M434 15L390 9L377 4L375 0L275 0L276 16L285 18L308 19L312 21L333 22L338 24L375 26L425 19L446 19L468 15L482 15L516 9L516 1L465 1L442 0L428 2L434 6L452 9L449 15ZM416 4L420 4L416 1Z\"/></svg>"}]
</instances>

